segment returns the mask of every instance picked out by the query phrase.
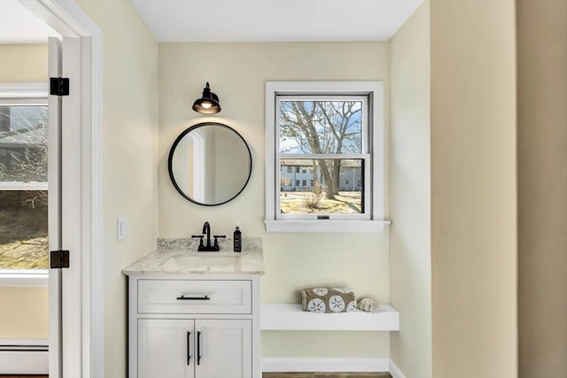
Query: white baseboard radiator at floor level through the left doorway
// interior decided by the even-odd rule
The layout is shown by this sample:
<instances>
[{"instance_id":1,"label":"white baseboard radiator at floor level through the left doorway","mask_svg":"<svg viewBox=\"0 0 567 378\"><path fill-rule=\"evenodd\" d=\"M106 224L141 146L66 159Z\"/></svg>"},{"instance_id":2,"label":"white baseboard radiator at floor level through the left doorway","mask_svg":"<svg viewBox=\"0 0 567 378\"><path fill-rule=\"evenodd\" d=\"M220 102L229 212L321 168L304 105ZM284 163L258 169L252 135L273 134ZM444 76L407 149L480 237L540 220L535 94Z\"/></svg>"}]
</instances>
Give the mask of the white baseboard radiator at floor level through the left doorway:
<instances>
[{"instance_id":1,"label":"white baseboard radiator at floor level through the left doorway","mask_svg":"<svg viewBox=\"0 0 567 378\"><path fill-rule=\"evenodd\" d=\"M48 340L0 339L0 374L48 374Z\"/></svg>"}]
</instances>

